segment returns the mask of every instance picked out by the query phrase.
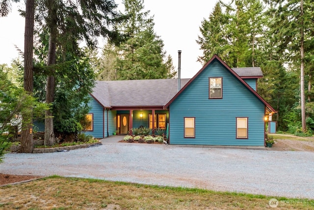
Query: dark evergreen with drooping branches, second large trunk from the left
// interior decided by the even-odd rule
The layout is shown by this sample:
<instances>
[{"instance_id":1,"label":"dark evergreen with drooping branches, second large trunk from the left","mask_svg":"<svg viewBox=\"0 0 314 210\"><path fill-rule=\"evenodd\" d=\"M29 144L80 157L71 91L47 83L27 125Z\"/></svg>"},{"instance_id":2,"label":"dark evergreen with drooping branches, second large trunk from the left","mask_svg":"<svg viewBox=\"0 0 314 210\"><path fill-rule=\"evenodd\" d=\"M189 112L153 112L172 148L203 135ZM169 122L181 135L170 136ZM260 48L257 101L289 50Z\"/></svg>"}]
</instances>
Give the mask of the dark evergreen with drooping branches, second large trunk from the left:
<instances>
[{"instance_id":1,"label":"dark evergreen with drooping branches, second large trunk from the left","mask_svg":"<svg viewBox=\"0 0 314 210\"><path fill-rule=\"evenodd\" d=\"M45 4L37 10L49 34L48 61L50 74L47 78L46 102L54 101L56 52L59 51L63 62L67 53L79 56L78 42L85 40L88 46L95 47L97 37L103 35L111 41L119 41L119 35L110 26L121 16L115 11L113 0L63 1L43 0ZM62 62L61 61L61 62ZM45 145L54 143L52 110L47 111L45 120Z\"/></svg>"}]
</instances>

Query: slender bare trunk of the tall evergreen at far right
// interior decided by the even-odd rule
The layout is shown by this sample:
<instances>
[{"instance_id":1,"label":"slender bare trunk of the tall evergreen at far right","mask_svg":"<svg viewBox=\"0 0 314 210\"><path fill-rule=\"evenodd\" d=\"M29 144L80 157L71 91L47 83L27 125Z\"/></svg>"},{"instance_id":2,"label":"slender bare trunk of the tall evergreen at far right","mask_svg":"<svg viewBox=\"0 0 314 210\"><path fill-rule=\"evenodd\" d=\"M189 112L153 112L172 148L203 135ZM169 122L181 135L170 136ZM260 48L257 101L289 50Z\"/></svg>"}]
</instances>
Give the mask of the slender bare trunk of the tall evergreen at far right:
<instances>
[{"instance_id":1,"label":"slender bare trunk of the tall evergreen at far right","mask_svg":"<svg viewBox=\"0 0 314 210\"><path fill-rule=\"evenodd\" d=\"M304 94L304 15L303 15L303 0L301 0L301 118L302 118L302 131L306 132L306 116L305 116L305 94Z\"/></svg>"}]
</instances>

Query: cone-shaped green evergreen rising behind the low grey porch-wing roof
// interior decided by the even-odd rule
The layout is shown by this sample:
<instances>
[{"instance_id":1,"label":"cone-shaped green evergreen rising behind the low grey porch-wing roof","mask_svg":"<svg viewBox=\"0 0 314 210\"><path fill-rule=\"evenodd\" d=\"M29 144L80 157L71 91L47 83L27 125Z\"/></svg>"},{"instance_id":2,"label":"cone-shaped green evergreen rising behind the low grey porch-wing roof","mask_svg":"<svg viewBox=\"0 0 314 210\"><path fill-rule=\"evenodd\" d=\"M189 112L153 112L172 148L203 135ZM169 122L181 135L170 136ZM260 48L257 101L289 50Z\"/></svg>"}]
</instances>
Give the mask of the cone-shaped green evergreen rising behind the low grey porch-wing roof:
<instances>
[{"instance_id":1,"label":"cone-shaped green evergreen rising behind the low grey porch-wing roof","mask_svg":"<svg viewBox=\"0 0 314 210\"><path fill-rule=\"evenodd\" d=\"M117 79L172 78L171 58L166 58L163 41L154 31L153 17L148 17L149 11L143 12L143 0L125 0L124 5L129 19L117 27L127 34L116 51Z\"/></svg>"}]
</instances>

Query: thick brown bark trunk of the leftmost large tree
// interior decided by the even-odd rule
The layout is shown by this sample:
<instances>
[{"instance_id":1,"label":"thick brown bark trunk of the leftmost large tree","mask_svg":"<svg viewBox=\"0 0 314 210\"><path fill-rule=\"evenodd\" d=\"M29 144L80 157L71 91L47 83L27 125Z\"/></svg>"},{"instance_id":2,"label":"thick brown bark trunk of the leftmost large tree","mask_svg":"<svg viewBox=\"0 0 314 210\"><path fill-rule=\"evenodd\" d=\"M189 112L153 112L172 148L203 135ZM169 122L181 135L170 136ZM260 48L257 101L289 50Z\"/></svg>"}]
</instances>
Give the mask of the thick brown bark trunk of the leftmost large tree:
<instances>
[{"instance_id":1,"label":"thick brown bark trunk of the leftmost large tree","mask_svg":"<svg viewBox=\"0 0 314 210\"><path fill-rule=\"evenodd\" d=\"M35 1L26 0L25 10L25 34L24 34L24 90L28 94L33 92L33 36L34 36L34 12ZM22 138L20 152L32 153L33 136L32 136L32 114L23 116Z\"/></svg>"}]
</instances>

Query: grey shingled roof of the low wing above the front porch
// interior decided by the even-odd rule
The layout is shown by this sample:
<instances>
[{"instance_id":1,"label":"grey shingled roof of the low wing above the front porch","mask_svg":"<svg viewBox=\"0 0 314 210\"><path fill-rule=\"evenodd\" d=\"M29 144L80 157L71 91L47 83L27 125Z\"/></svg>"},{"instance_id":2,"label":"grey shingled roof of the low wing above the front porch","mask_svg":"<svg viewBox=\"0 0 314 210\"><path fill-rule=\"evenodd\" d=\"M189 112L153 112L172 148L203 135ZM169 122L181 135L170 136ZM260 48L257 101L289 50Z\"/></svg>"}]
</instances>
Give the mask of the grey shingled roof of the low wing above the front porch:
<instances>
[{"instance_id":1,"label":"grey shingled roof of the low wing above the front porch","mask_svg":"<svg viewBox=\"0 0 314 210\"><path fill-rule=\"evenodd\" d=\"M181 88L189 79L181 79ZM97 81L90 94L104 108L163 108L178 92L178 79Z\"/></svg>"}]
</instances>

